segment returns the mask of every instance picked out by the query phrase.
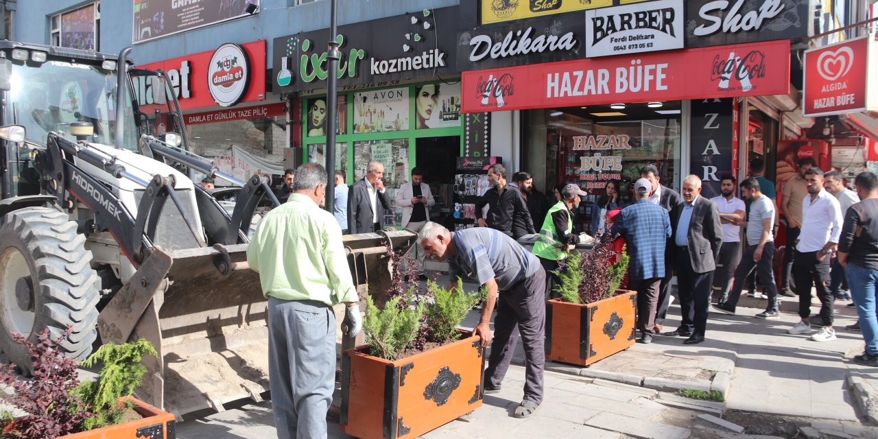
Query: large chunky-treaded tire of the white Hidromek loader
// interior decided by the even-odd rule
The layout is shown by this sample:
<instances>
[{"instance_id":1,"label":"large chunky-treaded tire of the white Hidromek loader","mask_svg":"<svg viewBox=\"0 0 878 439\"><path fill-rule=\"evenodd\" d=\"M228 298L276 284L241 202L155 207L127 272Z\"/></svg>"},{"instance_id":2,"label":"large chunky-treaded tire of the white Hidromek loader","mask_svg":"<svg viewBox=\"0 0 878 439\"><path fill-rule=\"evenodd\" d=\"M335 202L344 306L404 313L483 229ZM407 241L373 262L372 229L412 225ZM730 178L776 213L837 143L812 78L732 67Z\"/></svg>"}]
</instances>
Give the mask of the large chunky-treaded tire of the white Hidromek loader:
<instances>
[{"instance_id":1,"label":"large chunky-treaded tire of the white Hidromek loader","mask_svg":"<svg viewBox=\"0 0 878 439\"><path fill-rule=\"evenodd\" d=\"M0 219L0 349L25 375L33 371L25 346L48 329L53 339L70 327L60 349L84 360L97 339L100 280L85 236L64 212L27 207Z\"/></svg>"}]
</instances>

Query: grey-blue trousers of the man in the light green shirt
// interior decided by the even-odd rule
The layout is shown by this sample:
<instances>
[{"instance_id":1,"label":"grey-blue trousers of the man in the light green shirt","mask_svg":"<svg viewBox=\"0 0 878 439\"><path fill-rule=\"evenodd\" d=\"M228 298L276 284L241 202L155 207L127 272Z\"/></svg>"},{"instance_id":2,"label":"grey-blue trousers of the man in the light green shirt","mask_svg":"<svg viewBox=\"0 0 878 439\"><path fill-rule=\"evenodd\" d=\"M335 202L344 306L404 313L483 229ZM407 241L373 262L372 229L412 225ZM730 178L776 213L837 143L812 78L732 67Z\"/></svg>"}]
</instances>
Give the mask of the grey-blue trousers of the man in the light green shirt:
<instances>
[{"instance_id":1,"label":"grey-blue trousers of the man in the light green shirt","mask_svg":"<svg viewBox=\"0 0 878 439\"><path fill-rule=\"evenodd\" d=\"M335 313L269 297L269 381L279 439L327 437L335 387Z\"/></svg>"}]
</instances>

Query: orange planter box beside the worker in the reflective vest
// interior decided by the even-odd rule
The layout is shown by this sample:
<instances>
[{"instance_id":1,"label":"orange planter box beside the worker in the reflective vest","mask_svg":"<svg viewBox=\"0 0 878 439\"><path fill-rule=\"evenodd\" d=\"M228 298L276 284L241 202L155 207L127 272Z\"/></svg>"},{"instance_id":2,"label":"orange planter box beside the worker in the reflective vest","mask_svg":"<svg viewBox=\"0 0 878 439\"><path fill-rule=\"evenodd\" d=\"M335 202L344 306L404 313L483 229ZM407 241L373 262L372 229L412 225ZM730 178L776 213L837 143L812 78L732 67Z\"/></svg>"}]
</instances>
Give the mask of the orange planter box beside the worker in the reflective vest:
<instances>
[{"instance_id":1,"label":"orange planter box beside the worker in the reflective vest","mask_svg":"<svg viewBox=\"0 0 878 439\"><path fill-rule=\"evenodd\" d=\"M546 306L546 359L587 366L635 342L637 291L617 290L588 305L551 299Z\"/></svg>"}]
</instances>

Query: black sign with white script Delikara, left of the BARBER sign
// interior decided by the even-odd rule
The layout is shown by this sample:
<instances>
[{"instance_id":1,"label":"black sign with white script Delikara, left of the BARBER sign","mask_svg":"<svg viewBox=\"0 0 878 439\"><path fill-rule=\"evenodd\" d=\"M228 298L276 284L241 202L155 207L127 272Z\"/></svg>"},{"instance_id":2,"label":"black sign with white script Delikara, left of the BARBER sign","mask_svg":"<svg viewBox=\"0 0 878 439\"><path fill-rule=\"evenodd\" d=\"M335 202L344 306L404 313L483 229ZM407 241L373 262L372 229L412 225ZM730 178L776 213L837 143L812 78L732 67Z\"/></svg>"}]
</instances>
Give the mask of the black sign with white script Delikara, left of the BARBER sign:
<instances>
[{"instance_id":1,"label":"black sign with white script Delikara, left of the BARBER sign","mask_svg":"<svg viewBox=\"0 0 878 439\"><path fill-rule=\"evenodd\" d=\"M584 58L582 16L482 26L457 35L457 65L496 68Z\"/></svg>"}]
</instances>

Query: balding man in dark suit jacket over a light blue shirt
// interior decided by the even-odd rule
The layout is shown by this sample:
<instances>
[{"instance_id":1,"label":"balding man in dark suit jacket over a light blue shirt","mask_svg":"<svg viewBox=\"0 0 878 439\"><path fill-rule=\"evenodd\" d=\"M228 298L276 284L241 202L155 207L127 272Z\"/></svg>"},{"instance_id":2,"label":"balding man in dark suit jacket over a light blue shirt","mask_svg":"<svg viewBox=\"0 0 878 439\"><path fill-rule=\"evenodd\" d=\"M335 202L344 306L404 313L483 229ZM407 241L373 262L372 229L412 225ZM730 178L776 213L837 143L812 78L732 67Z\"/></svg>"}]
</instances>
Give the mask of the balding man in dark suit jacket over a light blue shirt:
<instances>
[{"instance_id":1,"label":"balding man in dark suit jacket over a light blue shirt","mask_svg":"<svg viewBox=\"0 0 878 439\"><path fill-rule=\"evenodd\" d=\"M701 178L687 176L683 180L683 203L671 211L682 321L676 331L663 335L687 336L686 344L704 341L716 256L723 244L719 212L715 204L700 196L701 192Z\"/></svg>"}]
</instances>

